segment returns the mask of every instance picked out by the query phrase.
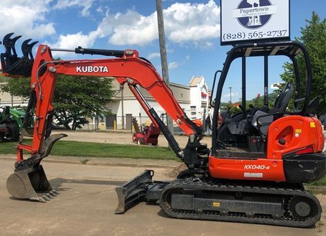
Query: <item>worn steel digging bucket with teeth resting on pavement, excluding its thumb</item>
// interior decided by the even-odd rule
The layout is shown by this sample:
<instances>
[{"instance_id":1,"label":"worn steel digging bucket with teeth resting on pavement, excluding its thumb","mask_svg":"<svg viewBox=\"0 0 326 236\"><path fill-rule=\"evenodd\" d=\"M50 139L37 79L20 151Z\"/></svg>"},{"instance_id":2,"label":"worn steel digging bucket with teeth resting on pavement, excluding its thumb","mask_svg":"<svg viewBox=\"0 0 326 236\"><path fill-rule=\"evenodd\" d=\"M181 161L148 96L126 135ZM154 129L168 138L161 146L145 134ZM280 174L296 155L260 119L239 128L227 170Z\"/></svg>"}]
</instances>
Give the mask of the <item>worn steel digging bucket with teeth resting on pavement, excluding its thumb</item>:
<instances>
[{"instance_id":1,"label":"worn steel digging bucket with teeth resting on pavement, excluding its thumb","mask_svg":"<svg viewBox=\"0 0 326 236\"><path fill-rule=\"evenodd\" d=\"M38 157L35 157L38 156ZM35 160L39 155L33 156ZM44 173L43 167L16 170L7 179L7 190L12 197L45 202L57 195Z\"/></svg>"}]
</instances>

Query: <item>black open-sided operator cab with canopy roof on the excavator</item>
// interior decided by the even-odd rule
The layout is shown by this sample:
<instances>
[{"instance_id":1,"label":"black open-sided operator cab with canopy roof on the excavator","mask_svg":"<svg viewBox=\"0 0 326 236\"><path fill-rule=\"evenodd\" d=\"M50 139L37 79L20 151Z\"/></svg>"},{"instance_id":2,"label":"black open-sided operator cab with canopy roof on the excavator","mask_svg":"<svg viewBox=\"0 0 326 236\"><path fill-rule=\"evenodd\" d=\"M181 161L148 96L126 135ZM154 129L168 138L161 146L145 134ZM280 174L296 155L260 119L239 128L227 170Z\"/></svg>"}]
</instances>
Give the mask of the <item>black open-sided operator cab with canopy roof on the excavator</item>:
<instances>
[{"instance_id":1,"label":"black open-sided operator cab with canopy roof on the excavator","mask_svg":"<svg viewBox=\"0 0 326 236\"><path fill-rule=\"evenodd\" d=\"M269 106L268 98L268 59L272 56L286 56L293 65L294 81L285 83L278 97L274 101L274 106ZM255 107L252 104L246 104L246 58L263 57L264 59L264 104L261 107ZM232 61L242 59L242 104L239 106L241 112L230 115L230 108L221 112L223 122L221 126L218 123L218 111L221 106L221 94L227 73ZM305 61L306 69L303 78L302 72L298 68L298 59ZM302 44L295 41L281 41L270 43L246 43L234 46L227 52L227 59L224 63L223 70L218 81L214 115L213 115L213 135L212 135L212 155L218 157L247 157L247 158L264 158L266 157L268 128L273 121L287 115L309 115L314 112L318 106L318 98L309 104L309 91L311 89L312 72L310 68L307 51ZM213 83L216 81L216 72ZM302 83L305 84L302 84ZM287 107L293 100L294 109L290 112ZM211 102L212 105L212 102ZM285 140L279 139L282 144Z\"/></svg>"}]
</instances>

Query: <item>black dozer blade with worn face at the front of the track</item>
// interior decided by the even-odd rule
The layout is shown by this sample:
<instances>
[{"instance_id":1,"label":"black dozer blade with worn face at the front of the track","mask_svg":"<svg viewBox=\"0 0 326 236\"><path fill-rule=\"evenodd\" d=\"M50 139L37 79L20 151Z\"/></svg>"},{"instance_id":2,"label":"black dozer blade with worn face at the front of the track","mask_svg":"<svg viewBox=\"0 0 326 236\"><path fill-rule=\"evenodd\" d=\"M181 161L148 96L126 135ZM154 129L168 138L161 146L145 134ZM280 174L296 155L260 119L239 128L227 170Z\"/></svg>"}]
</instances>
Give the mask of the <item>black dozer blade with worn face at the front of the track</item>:
<instances>
[{"instance_id":1,"label":"black dozer blade with worn face at the front of the track","mask_svg":"<svg viewBox=\"0 0 326 236\"><path fill-rule=\"evenodd\" d=\"M134 177L123 186L116 187L119 200L118 208L115 211L116 214L124 213L129 206L146 196L148 185L152 184L153 175L153 170L145 170L141 175Z\"/></svg>"}]
</instances>

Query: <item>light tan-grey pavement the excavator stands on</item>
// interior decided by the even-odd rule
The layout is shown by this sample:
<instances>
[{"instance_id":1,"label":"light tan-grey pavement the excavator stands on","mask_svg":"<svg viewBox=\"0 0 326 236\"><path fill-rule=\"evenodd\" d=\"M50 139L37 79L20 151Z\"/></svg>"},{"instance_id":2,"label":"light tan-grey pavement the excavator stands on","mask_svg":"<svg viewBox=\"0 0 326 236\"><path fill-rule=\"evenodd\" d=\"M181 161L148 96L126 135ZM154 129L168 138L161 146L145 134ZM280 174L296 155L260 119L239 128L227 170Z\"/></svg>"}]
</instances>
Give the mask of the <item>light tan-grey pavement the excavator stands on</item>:
<instances>
[{"instance_id":1,"label":"light tan-grey pavement the excavator stands on","mask_svg":"<svg viewBox=\"0 0 326 236\"><path fill-rule=\"evenodd\" d=\"M88 166L43 162L50 183L60 195L45 204L11 199L6 178L13 161L0 159L0 235L325 235L326 216L316 228L172 219L158 205L138 204L114 215L114 188L143 168ZM167 168L156 168L155 179L168 179ZM323 208L326 197L318 195Z\"/></svg>"}]
</instances>

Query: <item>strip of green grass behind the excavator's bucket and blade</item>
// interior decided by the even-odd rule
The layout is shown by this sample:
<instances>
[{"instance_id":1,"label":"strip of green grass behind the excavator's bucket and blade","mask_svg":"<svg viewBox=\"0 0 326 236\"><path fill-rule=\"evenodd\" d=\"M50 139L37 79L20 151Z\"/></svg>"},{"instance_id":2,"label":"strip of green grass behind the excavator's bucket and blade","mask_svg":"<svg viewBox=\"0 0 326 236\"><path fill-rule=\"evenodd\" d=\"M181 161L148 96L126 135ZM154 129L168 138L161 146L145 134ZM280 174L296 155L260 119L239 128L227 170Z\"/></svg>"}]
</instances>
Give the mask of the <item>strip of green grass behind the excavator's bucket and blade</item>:
<instances>
[{"instance_id":1,"label":"strip of green grass behind the excavator's bucket and blade","mask_svg":"<svg viewBox=\"0 0 326 236\"><path fill-rule=\"evenodd\" d=\"M26 139L23 141L23 143L31 144L31 141L31 139ZM17 143L0 143L0 154L15 154L16 150L13 148L14 144ZM168 148L122 144L96 144L81 141L62 140L59 140L56 144L54 144L51 155L179 160L172 150L169 150Z\"/></svg>"}]
</instances>

